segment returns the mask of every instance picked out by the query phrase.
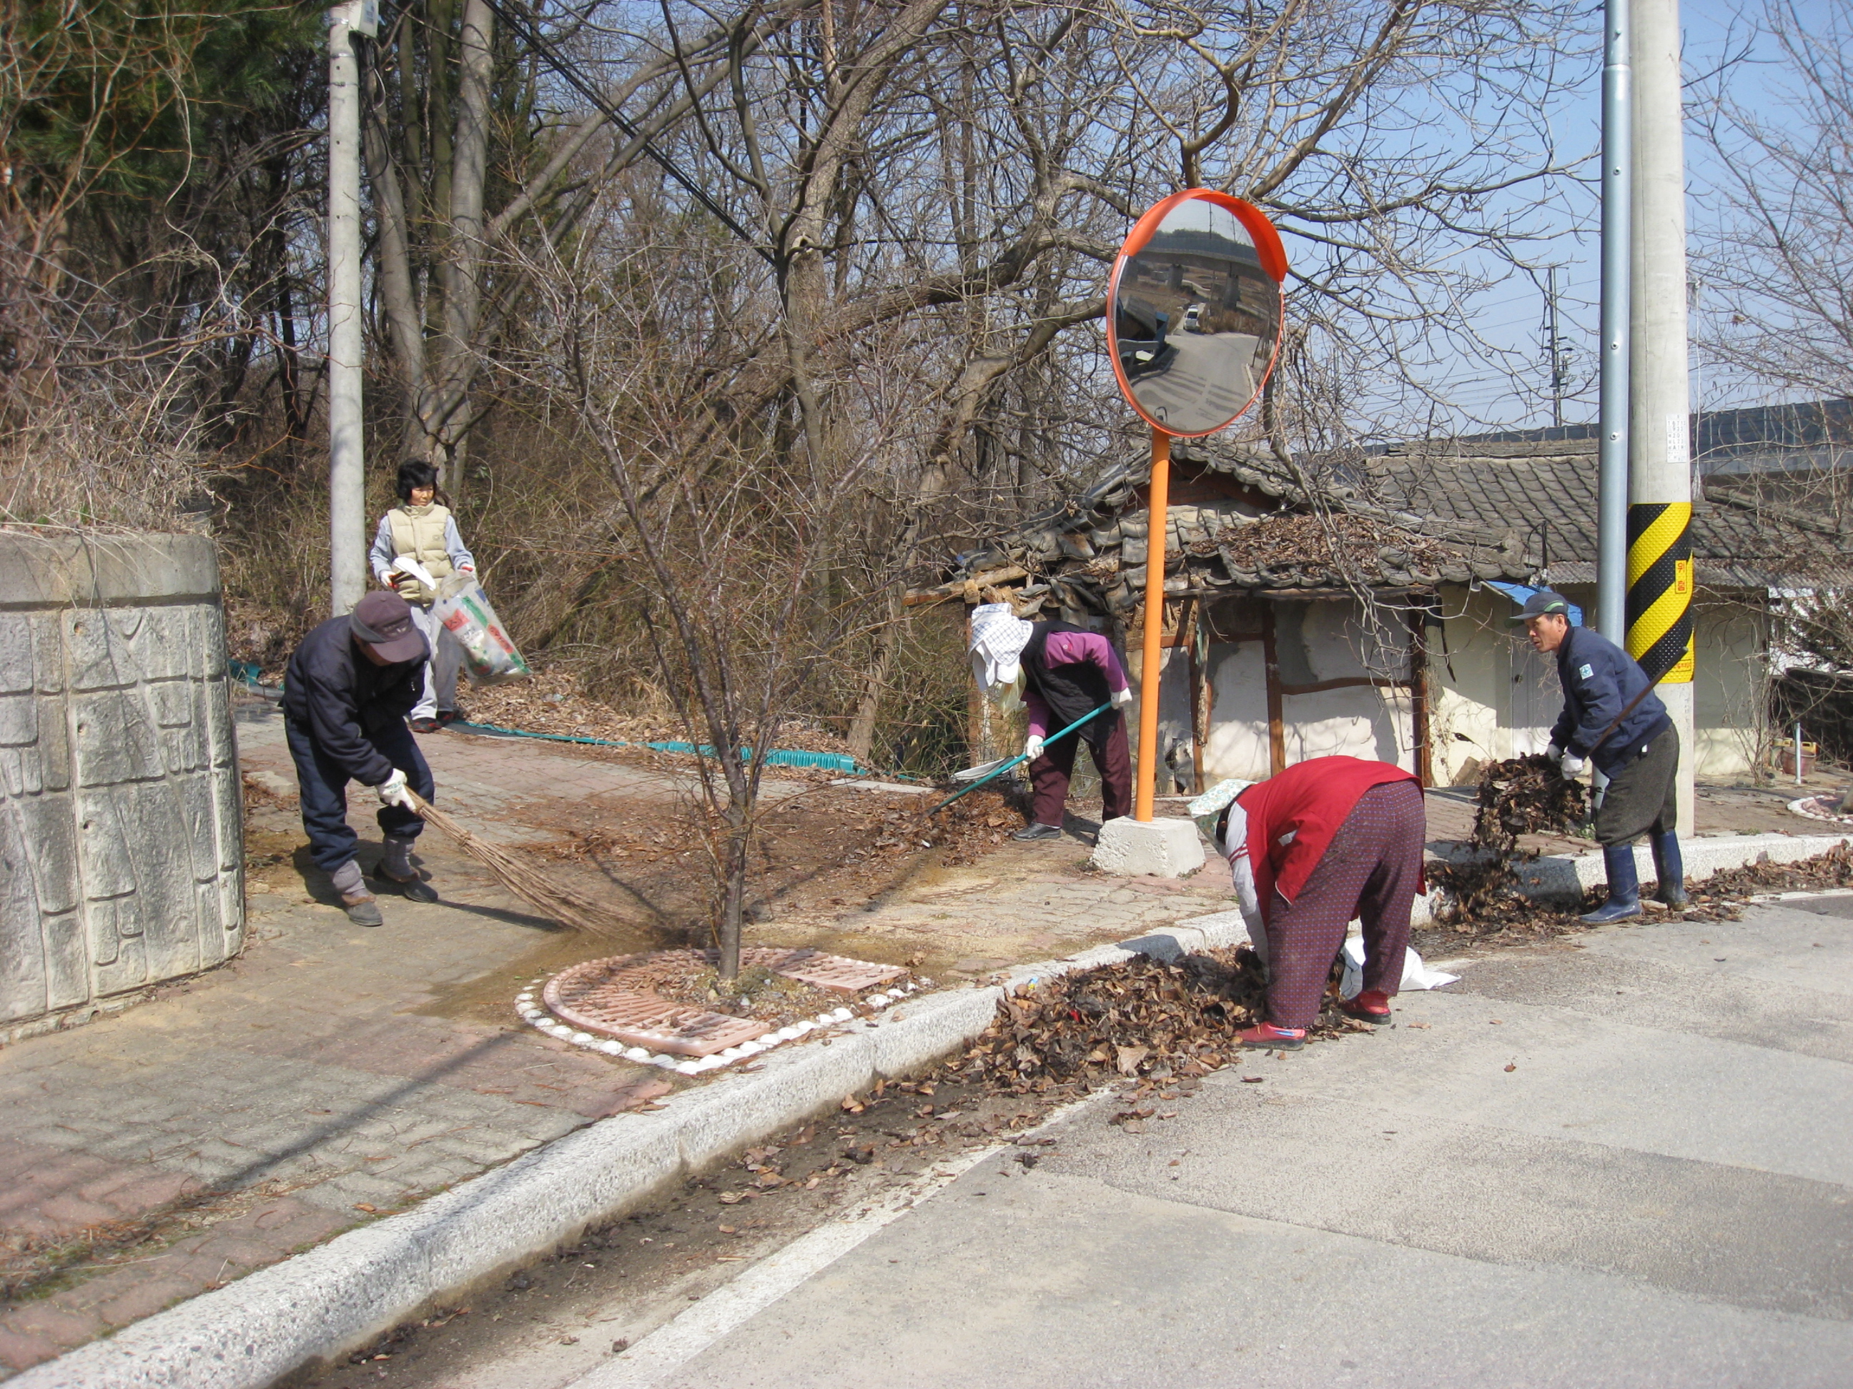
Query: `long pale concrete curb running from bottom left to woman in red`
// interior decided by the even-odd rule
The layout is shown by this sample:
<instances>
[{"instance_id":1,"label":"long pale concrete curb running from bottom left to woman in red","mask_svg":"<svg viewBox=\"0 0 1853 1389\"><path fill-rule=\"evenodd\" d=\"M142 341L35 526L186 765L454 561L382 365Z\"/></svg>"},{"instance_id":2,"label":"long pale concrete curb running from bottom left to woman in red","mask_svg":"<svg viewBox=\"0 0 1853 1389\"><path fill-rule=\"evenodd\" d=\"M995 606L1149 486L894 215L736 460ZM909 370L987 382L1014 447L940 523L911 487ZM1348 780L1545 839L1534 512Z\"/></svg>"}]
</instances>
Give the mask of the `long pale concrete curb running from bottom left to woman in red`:
<instances>
[{"instance_id":1,"label":"long pale concrete curb running from bottom left to woman in red","mask_svg":"<svg viewBox=\"0 0 1853 1389\"><path fill-rule=\"evenodd\" d=\"M1236 911L1025 965L1010 985L1151 954L1247 939ZM263 1389L574 1241L878 1080L958 1050L997 1015L1006 985L921 995L723 1074L662 1111L613 1115L417 1208L124 1326L7 1383L13 1389Z\"/></svg>"}]
</instances>

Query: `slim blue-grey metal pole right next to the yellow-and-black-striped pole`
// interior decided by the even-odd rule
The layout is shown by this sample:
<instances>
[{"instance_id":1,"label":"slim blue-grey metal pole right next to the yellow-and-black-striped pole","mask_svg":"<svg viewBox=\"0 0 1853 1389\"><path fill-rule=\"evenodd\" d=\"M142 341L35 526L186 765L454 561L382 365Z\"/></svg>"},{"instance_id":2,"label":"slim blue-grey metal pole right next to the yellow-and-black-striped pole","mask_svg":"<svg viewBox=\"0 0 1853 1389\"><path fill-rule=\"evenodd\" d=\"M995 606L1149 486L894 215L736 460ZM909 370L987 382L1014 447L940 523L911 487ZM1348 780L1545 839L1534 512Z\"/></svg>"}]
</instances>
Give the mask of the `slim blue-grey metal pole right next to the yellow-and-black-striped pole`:
<instances>
[{"instance_id":1,"label":"slim blue-grey metal pole right next to the yellow-and-black-striped pole","mask_svg":"<svg viewBox=\"0 0 1853 1389\"><path fill-rule=\"evenodd\" d=\"M1603 7L1603 357L1601 483L1595 504L1595 630L1627 632L1627 369L1629 369L1629 0Z\"/></svg>"}]
</instances>

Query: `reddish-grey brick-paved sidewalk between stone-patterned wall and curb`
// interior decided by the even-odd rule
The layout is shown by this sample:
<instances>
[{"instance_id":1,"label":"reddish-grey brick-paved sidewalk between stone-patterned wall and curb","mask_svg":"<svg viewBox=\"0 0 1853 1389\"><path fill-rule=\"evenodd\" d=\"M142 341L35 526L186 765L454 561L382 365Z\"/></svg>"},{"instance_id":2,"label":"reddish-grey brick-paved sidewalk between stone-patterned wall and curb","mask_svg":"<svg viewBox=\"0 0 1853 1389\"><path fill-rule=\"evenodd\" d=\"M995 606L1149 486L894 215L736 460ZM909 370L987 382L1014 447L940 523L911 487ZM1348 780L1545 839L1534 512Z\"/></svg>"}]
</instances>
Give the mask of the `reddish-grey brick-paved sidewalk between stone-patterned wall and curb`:
<instances>
[{"instance_id":1,"label":"reddish-grey brick-paved sidewalk between stone-patterned wall and curb","mask_svg":"<svg viewBox=\"0 0 1853 1389\"><path fill-rule=\"evenodd\" d=\"M560 745L421 739L439 796L511 843L556 839L561 804L678 796L678 778ZM239 756L291 796L269 706L239 709ZM769 783L789 795L802 783ZM378 843L371 798L354 824ZM528 820L528 822L524 822ZM256 806L265 843L300 845L293 796ZM1186 882L1086 869L1080 839L1006 845L834 917L776 919L750 943L919 950L965 974L1138 935L1227 906ZM293 859L250 874L250 943L230 965L89 1026L0 1050L0 1369L17 1370L476 1176L671 1089L660 1070L524 1028L536 974L608 950L526 913L424 835L443 902L382 898L356 928L326 878Z\"/></svg>"}]
</instances>

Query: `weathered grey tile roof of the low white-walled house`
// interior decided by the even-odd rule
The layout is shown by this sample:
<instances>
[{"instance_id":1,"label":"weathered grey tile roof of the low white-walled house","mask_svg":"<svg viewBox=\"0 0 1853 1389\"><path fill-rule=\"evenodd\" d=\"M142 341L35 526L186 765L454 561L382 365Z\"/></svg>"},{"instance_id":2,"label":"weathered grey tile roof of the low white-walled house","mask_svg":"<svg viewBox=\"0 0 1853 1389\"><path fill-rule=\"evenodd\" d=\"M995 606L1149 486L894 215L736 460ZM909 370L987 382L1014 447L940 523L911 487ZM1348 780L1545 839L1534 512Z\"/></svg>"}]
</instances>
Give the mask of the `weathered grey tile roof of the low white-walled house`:
<instances>
[{"instance_id":1,"label":"weathered grey tile roof of the low white-walled house","mask_svg":"<svg viewBox=\"0 0 1853 1389\"><path fill-rule=\"evenodd\" d=\"M1594 439L1436 441L1297 463L1179 439L1171 456L1184 474L1219 474L1236 487L1229 500L1169 507L1166 550L1177 559L1167 561L1167 593L1527 583L1545 561L1557 583L1595 578ZM1041 598L1071 620L1132 607L1145 565L1143 469L1143 457L1112 461L1067 506L958 556L952 582L930 593L971 580L1010 583L1019 606ZM1707 587L1853 585L1853 550L1833 520L1738 485L1707 485L1692 544Z\"/></svg>"}]
</instances>

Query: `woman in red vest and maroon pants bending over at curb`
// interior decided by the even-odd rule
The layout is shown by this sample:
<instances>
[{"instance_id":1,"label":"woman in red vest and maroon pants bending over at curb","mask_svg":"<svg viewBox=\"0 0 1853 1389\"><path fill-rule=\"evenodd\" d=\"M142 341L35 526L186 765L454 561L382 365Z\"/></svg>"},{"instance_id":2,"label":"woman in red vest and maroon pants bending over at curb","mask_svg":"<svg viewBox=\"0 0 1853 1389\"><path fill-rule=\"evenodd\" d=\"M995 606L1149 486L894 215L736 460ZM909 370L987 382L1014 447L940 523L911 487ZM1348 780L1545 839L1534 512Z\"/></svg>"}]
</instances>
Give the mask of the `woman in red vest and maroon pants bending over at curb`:
<instances>
[{"instance_id":1,"label":"woman in red vest and maroon pants bending over at curb","mask_svg":"<svg viewBox=\"0 0 1853 1389\"><path fill-rule=\"evenodd\" d=\"M1382 761L1314 757L1240 787L1223 783L1191 811L1219 815L1214 837L1234 872L1254 950L1267 963L1267 1020L1243 1032L1242 1045L1305 1046L1353 917L1364 922L1364 989L1340 1007L1364 1022L1388 1022L1390 996L1403 982L1410 904L1423 891L1421 783ZM1227 809L1204 804L1230 789Z\"/></svg>"}]
</instances>

